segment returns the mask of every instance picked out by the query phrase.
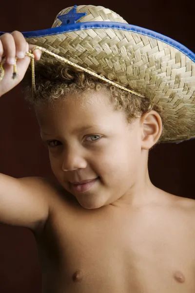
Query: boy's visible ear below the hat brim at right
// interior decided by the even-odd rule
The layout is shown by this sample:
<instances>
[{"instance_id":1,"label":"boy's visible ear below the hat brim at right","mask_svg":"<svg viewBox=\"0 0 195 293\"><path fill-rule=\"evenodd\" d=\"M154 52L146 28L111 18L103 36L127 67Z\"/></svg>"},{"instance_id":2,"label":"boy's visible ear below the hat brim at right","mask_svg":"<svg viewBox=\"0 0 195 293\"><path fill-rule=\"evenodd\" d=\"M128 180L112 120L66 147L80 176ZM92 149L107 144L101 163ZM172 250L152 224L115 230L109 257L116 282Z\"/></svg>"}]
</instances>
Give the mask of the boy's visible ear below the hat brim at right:
<instances>
[{"instance_id":1,"label":"boy's visible ear below the hat brim at right","mask_svg":"<svg viewBox=\"0 0 195 293\"><path fill-rule=\"evenodd\" d=\"M162 133L161 117L152 110L141 117L140 126L142 130L141 148L150 149L157 143Z\"/></svg>"}]
</instances>

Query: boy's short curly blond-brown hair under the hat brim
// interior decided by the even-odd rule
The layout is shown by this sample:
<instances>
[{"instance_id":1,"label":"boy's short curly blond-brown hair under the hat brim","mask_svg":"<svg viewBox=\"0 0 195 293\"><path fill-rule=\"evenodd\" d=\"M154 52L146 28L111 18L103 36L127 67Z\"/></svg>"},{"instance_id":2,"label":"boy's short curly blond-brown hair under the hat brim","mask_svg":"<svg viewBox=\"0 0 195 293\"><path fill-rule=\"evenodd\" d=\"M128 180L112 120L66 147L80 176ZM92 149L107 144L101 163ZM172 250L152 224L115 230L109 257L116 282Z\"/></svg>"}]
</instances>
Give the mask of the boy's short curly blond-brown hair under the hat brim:
<instances>
[{"instance_id":1,"label":"boy's short curly blond-brown hair under the hat brim","mask_svg":"<svg viewBox=\"0 0 195 293\"><path fill-rule=\"evenodd\" d=\"M117 82L117 84L121 84L112 74L107 76L103 74L101 75ZM57 100L64 99L67 95L73 93L83 96L83 93L90 90L103 90L109 94L115 110L125 110L127 121L129 123L150 110L158 112L163 123L165 120L162 106L154 104L149 98L141 98L137 95L131 94L128 91L113 86L112 84L102 81L69 65L42 65L41 63L35 62L36 90L34 98L31 93L31 79L31 69L29 68L21 85L22 92L25 95L25 100L31 105L53 103ZM121 85L130 88L127 84Z\"/></svg>"}]
</instances>

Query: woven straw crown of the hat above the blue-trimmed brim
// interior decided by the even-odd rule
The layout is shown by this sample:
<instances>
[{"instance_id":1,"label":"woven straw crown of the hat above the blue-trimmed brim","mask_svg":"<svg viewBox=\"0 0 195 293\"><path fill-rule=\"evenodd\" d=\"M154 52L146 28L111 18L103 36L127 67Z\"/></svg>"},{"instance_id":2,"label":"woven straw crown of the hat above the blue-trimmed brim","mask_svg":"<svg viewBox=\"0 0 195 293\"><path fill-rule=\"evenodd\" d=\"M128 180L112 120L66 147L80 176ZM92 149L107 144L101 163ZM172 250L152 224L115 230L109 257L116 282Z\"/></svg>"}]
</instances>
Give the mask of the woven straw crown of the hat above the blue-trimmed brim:
<instances>
[{"instance_id":1,"label":"woven straw crown of the hat above the blue-trimmed brim","mask_svg":"<svg viewBox=\"0 0 195 293\"><path fill-rule=\"evenodd\" d=\"M88 22L88 21L113 21L113 22L121 22L121 23L128 23L125 21L121 16L119 16L116 12L105 8L103 6L94 6L94 5L75 5L71 7L67 7L59 12L59 14L56 16L55 21L52 25L52 27L58 27L62 24L62 21L59 19L62 15L67 15L68 13L73 11L73 9L76 9L76 13L79 13L80 15L83 14L83 16L80 16L80 18L75 22ZM86 15L84 15L86 14ZM68 25L70 21L67 22L66 25ZM71 22L70 22L71 23Z\"/></svg>"}]
</instances>

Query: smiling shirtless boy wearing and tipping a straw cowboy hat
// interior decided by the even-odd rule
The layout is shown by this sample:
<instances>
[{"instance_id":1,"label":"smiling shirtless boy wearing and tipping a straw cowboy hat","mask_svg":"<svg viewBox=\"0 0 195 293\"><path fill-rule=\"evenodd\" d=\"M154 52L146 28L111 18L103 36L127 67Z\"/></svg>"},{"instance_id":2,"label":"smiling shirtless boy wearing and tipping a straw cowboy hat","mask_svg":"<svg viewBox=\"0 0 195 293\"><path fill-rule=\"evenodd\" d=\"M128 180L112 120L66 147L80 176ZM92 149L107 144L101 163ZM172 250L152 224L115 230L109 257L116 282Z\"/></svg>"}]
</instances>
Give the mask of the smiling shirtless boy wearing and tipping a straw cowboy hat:
<instances>
[{"instance_id":1,"label":"smiling shirtless boy wearing and tipping a straw cowboy hat","mask_svg":"<svg viewBox=\"0 0 195 293\"><path fill-rule=\"evenodd\" d=\"M44 293L195 292L195 201L156 188L147 167L156 143L195 137L195 56L162 40L93 5L0 36L0 96L23 80L59 182L0 174L0 222L33 231ZM36 45L61 60L33 51L32 96Z\"/></svg>"}]
</instances>

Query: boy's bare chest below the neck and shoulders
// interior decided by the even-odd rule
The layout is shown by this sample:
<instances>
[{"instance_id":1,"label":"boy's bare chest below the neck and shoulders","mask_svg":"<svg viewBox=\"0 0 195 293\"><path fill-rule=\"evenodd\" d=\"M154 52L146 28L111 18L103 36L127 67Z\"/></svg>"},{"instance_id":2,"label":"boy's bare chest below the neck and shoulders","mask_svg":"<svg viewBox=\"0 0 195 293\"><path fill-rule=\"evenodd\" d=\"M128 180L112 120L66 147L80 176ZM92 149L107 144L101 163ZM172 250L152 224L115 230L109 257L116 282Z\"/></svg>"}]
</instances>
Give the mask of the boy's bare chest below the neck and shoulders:
<instances>
[{"instance_id":1,"label":"boy's bare chest below the neck and shoulders","mask_svg":"<svg viewBox=\"0 0 195 293\"><path fill-rule=\"evenodd\" d=\"M59 213L38 240L43 292L194 293L195 248L184 228Z\"/></svg>"}]
</instances>

